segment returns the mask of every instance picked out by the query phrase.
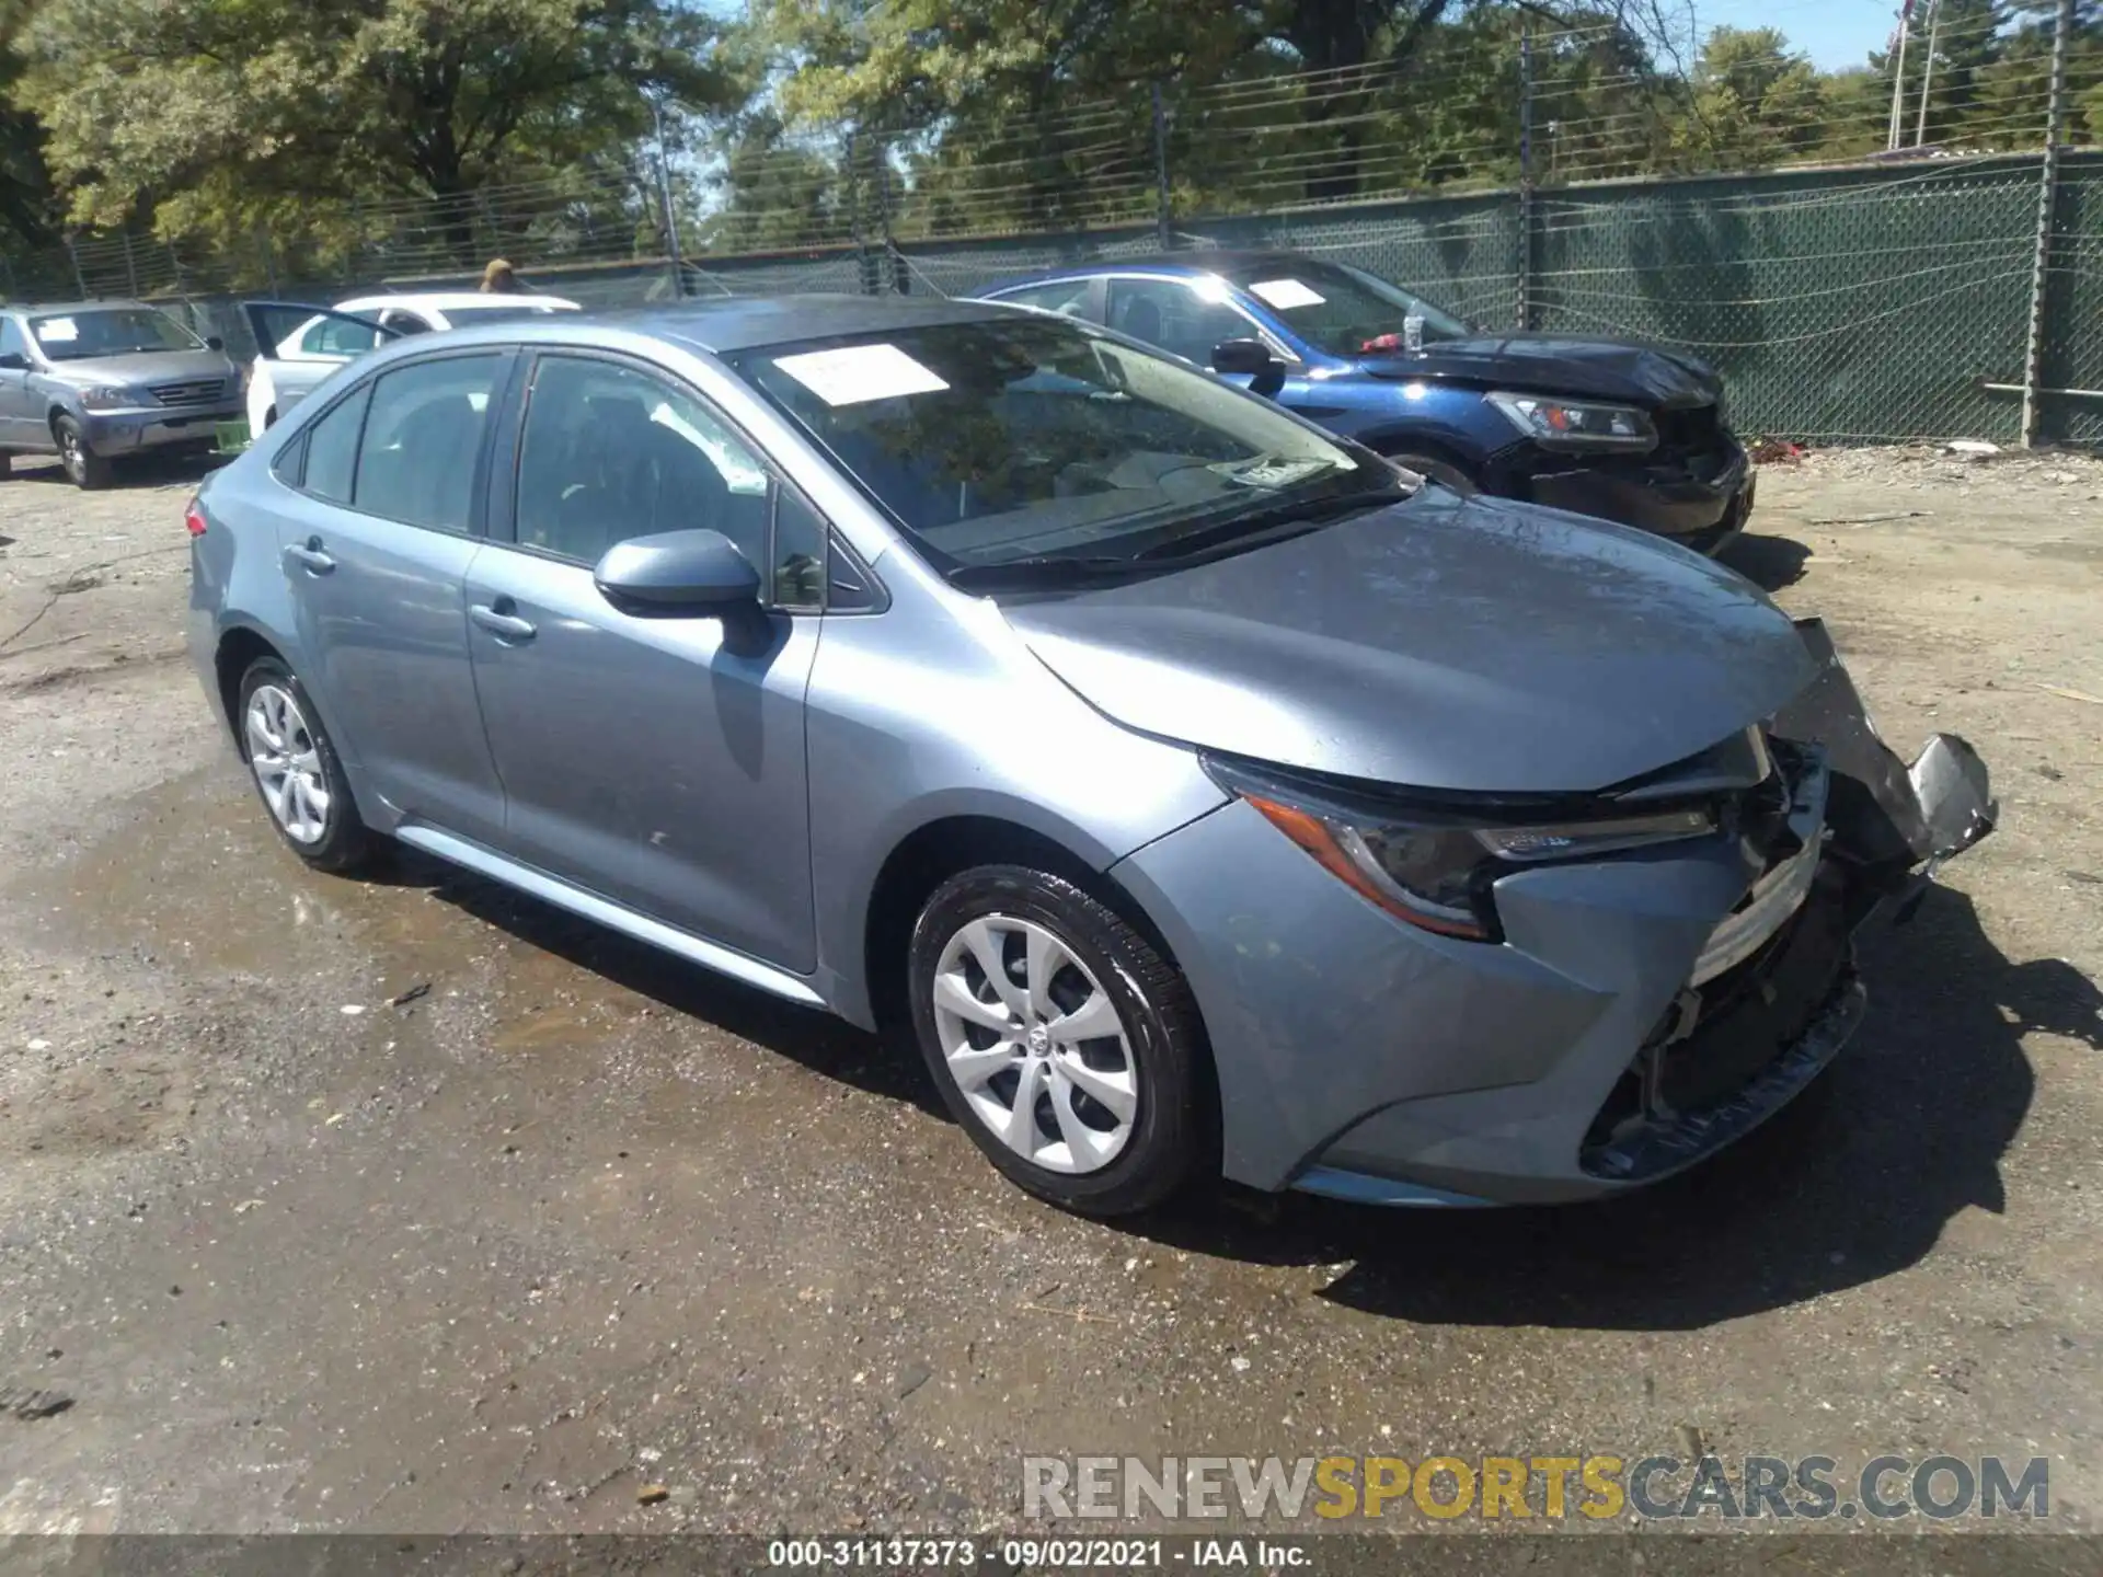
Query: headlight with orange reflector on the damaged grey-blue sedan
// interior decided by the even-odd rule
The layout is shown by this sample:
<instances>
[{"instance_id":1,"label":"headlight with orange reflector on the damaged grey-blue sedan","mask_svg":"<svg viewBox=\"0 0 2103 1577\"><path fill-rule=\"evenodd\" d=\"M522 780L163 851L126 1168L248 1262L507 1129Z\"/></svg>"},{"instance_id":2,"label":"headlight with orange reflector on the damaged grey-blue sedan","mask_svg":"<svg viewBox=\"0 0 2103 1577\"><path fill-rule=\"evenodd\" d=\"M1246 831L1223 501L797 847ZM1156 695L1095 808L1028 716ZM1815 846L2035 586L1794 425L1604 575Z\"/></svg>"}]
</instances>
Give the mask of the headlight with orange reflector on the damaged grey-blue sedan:
<instances>
[{"instance_id":1,"label":"headlight with orange reflector on the damaged grey-blue sedan","mask_svg":"<svg viewBox=\"0 0 2103 1577\"><path fill-rule=\"evenodd\" d=\"M1495 942L1489 887L1514 868L1706 837L1716 812L1678 807L1638 816L1527 818L1485 807L1388 810L1331 803L1224 761L1205 770L1371 904L1441 936Z\"/></svg>"}]
</instances>

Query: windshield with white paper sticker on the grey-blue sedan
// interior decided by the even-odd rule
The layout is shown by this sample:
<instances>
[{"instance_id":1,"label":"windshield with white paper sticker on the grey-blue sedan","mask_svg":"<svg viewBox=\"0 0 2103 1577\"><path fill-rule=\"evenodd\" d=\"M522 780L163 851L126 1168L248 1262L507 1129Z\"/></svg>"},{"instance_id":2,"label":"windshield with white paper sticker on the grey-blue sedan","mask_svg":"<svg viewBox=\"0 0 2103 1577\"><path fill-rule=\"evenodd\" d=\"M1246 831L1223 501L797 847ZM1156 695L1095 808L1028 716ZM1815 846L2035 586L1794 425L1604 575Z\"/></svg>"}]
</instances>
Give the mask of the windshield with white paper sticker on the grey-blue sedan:
<instances>
[{"instance_id":1,"label":"windshield with white paper sticker on the grey-blue sedan","mask_svg":"<svg viewBox=\"0 0 2103 1577\"><path fill-rule=\"evenodd\" d=\"M1243 517L1405 494L1377 456L1056 318L772 345L732 366L953 576L1159 561Z\"/></svg>"}]
</instances>

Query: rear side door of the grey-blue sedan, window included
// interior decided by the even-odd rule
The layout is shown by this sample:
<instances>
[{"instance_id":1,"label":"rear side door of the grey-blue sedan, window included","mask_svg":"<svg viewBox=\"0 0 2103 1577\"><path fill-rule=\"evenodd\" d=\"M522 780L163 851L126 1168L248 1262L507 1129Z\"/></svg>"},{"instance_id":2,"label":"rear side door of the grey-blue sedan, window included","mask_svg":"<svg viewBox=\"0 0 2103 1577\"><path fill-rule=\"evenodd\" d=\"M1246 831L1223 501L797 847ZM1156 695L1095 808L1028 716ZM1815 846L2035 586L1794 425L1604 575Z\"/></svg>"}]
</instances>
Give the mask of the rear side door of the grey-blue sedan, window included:
<instances>
[{"instance_id":1,"label":"rear side door of the grey-blue sedan, window included","mask_svg":"<svg viewBox=\"0 0 2103 1577\"><path fill-rule=\"evenodd\" d=\"M404 818L482 841L503 833L503 788L475 704L465 574L482 545L477 460L509 366L507 351L395 366L278 463L297 488L278 549L301 677L339 749Z\"/></svg>"}]
</instances>

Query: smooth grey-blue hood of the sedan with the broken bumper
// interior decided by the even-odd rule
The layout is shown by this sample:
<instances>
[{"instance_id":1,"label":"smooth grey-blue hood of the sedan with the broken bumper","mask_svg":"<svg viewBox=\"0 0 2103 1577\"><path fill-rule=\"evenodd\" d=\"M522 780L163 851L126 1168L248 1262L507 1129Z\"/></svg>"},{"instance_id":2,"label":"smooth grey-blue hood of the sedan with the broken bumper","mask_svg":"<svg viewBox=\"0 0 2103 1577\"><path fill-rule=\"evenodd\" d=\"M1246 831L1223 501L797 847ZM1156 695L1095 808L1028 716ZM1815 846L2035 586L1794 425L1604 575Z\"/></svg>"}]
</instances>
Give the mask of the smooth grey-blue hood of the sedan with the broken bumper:
<instances>
[{"instance_id":1,"label":"smooth grey-blue hood of the sedan with the broken bumper","mask_svg":"<svg viewBox=\"0 0 2103 1577\"><path fill-rule=\"evenodd\" d=\"M1817 673L1790 618L1731 570L1445 490L1003 612L1127 728L1434 791L1607 788L1769 717Z\"/></svg>"}]
</instances>

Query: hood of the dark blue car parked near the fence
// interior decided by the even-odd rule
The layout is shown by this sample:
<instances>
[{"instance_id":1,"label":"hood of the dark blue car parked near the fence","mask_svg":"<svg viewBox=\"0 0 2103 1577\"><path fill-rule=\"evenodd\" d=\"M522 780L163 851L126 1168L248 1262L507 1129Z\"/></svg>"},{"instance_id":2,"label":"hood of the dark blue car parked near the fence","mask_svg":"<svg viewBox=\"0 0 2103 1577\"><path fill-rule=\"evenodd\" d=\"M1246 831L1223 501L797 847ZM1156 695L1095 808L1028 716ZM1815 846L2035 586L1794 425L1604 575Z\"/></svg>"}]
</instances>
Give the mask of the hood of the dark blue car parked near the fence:
<instances>
[{"instance_id":1,"label":"hood of the dark blue car parked near the fence","mask_svg":"<svg viewBox=\"0 0 2103 1577\"><path fill-rule=\"evenodd\" d=\"M1422 351L1365 360L1361 368L1375 378L1453 378L1642 406L1706 406L1722 395L1722 378L1693 355L1663 345L1554 334L1432 341Z\"/></svg>"}]
</instances>

